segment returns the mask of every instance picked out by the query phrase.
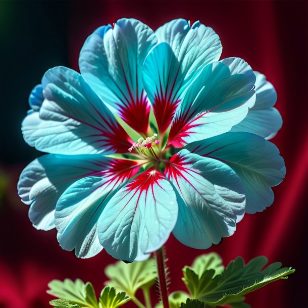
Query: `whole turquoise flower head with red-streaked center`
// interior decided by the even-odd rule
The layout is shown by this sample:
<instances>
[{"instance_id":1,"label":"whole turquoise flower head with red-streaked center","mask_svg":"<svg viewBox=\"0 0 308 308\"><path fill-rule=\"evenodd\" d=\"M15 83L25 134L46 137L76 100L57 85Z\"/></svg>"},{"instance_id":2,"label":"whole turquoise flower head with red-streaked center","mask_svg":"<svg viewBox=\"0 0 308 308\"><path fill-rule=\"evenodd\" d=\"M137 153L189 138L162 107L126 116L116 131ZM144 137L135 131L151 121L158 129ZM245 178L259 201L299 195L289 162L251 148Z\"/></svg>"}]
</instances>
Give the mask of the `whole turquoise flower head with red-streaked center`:
<instances>
[{"instance_id":1,"label":"whole turquoise flower head with red-streaked center","mask_svg":"<svg viewBox=\"0 0 308 308\"><path fill-rule=\"evenodd\" d=\"M22 172L29 218L81 258L142 260L172 232L205 249L269 207L284 175L276 92L219 36L173 20L96 29L81 74L48 70L30 94L25 141L48 152Z\"/></svg>"}]
</instances>

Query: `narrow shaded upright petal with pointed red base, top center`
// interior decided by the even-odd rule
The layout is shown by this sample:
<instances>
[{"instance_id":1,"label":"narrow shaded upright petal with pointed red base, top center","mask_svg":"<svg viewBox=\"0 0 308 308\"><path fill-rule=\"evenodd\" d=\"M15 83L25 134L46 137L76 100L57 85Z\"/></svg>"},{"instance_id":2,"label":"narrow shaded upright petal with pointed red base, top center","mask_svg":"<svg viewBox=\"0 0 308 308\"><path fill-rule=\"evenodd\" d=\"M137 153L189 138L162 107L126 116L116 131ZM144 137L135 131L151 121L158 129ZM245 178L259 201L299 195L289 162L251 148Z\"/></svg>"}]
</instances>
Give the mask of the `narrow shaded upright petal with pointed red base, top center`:
<instances>
[{"instance_id":1,"label":"narrow shaded upright petal with pointed red base, top center","mask_svg":"<svg viewBox=\"0 0 308 308\"><path fill-rule=\"evenodd\" d=\"M157 45L146 57L142 80L152 103L159 131L164 133L179 104L183 81L180 63L167 43Z\"/></svg>"}]
</instances>

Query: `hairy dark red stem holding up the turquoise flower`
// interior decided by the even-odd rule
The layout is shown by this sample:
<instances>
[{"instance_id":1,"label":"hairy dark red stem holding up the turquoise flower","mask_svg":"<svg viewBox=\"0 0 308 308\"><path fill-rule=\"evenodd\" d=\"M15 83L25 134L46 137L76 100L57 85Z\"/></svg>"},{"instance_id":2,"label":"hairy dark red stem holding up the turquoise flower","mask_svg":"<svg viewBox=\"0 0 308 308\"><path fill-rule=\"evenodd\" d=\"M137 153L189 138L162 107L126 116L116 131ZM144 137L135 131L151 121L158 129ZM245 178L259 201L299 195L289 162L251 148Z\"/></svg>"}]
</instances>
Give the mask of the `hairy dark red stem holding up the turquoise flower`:
<instances>
[{"instance_id":1,"label":"hairy dark red stem holding up the turquoise flower","mask_svg":"<svg viewBox=\"0 0 308 308\"><path fill-rule=\"evenodd\" d=\"M164 246L155 252L158 282L164 308L169 308Z\"/></svg>"}]
</instances>

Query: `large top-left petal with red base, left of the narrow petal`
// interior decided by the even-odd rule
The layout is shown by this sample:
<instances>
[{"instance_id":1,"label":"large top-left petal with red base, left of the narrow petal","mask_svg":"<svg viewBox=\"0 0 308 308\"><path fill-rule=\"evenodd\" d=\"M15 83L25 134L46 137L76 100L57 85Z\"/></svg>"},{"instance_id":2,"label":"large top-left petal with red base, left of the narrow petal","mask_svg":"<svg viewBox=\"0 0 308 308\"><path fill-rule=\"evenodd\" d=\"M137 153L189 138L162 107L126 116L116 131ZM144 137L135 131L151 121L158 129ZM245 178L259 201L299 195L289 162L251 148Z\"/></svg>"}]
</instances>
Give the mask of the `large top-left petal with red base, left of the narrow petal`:
<instances>
[{"instance_id":1,"label":"large top-left petal with red base, left of the narrow petal","mask_svg":"<svg viewBox=\"0 0 308 308\"><path fill-rule=\"evenodd\" d=\"M79 58L82 76L133 129L146 133L149 105L141 70L149 49L157 43L154 32L136 19L120 19L100 27L85 41Z\"/></svg>"}]
</instances>

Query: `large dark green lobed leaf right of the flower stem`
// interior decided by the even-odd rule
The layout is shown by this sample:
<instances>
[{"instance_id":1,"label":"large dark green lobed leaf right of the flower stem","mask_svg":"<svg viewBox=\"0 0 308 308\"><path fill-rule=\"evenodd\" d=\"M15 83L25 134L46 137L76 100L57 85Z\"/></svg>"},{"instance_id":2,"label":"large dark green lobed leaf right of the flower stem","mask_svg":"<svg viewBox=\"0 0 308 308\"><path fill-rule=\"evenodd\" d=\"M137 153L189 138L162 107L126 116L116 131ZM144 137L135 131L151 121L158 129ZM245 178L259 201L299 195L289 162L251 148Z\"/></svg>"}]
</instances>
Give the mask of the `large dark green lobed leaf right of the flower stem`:
<instances>
[{"instance_id":1,"label":"large dark green lobed leaf right of the flower stem","mask_svg":"<svg viewBox=\"0 0 308 308\"><path fill-rule=\"evenodd\" d=\"M257 290L273 281L286 279L295 270L281 268L281 263L276 262L262 270L268 260L265 256L252 259L244 265L242 258L231 261L222 274L215 276L215 270L206 270L198 276L193 269L183 269L183 281L190 291L191 297L200 299L210 305L233 304L233 307L247 307L238 302L239 298L249 292Z\"/></svg>"}]
</instances>

